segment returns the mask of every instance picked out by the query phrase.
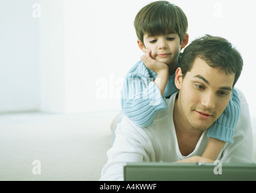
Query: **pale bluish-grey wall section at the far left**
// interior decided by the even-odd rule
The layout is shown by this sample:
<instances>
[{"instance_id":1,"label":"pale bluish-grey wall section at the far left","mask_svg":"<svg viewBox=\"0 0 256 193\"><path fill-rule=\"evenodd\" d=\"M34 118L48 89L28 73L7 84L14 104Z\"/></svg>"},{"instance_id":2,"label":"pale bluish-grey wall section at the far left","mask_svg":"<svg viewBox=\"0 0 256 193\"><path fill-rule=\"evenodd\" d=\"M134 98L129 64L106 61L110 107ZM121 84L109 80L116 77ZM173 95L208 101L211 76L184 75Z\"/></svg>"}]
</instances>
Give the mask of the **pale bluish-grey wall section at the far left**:
<instances>
[{"instance_id":1,"label":"pale bluish-grey wall section at the far left","mask_svg":"<svg viewBox=\"0 0 256 193\"><path fill-rule=\"evenodd\" d=\"M40 103L36 1L0 1L0 112L36 110Z\"/></svg>"}]
</instances>

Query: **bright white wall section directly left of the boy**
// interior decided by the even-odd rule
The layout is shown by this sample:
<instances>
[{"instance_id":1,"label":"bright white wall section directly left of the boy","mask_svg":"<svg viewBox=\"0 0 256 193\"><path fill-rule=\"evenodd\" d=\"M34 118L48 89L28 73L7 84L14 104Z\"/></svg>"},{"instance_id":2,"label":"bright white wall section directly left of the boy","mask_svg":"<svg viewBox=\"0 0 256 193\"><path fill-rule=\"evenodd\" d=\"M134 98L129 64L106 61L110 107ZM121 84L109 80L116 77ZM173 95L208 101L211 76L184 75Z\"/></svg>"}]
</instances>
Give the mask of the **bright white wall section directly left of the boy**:
<instances>
[{"instance_id":1,"label":"bright white wall section directly left of the boy","mask_svg":"<svg viewBox=\"0 0 256 193\"><path fill-rule=\"evenodd\" d=\"M123 77L139 60L136 1L65 1L68 112L120 109Z\"/></svg>"}]
</instances>

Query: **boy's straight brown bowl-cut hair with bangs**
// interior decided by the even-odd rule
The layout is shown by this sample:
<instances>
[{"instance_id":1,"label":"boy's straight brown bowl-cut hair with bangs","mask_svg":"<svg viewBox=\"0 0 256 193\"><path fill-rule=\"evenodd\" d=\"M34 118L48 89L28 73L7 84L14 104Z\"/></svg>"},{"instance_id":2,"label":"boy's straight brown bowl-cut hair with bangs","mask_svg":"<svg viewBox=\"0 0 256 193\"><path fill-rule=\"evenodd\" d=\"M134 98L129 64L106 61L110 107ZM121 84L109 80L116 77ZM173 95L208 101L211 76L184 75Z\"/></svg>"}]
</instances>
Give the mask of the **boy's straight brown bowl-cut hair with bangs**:
<instances>
[{"instance_id":1,"label":"boy's straight brown bowl-cut hair with bangs","mask_svg":"<svg viewBox=\"0 0 256 193\"><path fill-rule=\"evenodd\" d=\"M134 27L142 43L144 34L159 36L171 33L177 33L182 42L188 30L188 20L178 6L168 1L155 1L138 12Z\"/></svg>"}]
</instances>

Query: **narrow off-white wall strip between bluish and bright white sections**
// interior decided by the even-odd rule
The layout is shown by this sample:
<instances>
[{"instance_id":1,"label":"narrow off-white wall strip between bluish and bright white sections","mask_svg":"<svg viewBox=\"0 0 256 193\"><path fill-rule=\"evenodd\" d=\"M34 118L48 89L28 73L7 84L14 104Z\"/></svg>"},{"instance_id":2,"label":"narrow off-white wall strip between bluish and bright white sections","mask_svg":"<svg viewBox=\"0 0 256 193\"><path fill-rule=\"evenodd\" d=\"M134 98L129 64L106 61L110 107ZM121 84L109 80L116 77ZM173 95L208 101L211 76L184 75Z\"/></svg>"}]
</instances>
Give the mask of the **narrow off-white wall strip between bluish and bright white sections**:
<instances>
[{"instance_id":1,"label":"narrow off-white wall strip between bluish and bright white sections","mask_svg":"<svg viewBox=\"0 0 256 193\"><path fill-rule=\"evenodd\" d=\"M66 111L65 31L63 0L40 1L40 107Z\"/></svg>"}]
</instances>

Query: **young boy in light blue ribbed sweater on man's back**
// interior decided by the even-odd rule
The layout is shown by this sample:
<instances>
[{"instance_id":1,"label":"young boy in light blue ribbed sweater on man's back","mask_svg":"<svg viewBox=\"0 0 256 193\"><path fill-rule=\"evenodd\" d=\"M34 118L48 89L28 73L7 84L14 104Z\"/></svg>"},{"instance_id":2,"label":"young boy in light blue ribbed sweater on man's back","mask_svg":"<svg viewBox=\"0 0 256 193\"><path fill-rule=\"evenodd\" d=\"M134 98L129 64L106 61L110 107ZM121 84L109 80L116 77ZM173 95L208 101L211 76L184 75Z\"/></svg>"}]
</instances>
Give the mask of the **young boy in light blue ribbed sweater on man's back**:
<instances>
[{"instance_id":1,"label":"young boy in light blue ribbed sweater on man's back","mask_svg":"<svg viewBox=\"0 0 256 193\"><path fill-rule=\"evenodd\" d=\"M178 90L174 84L175 71L182 57L181 49L188 44L188 21L178 6L156 1L138 12L134 26L138 46L145 54L126 75L121 109L136 125L147 127L158 112L167 109L165 98ZM118 116L114 127L123 115ZM225 142L233 142L239 115L240 101L233 90L222 116L208 129L210 141L202 157L216 160Z\"/></svg>"}]
</instances>

